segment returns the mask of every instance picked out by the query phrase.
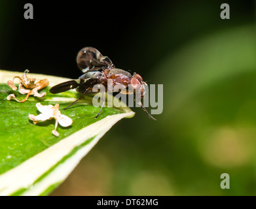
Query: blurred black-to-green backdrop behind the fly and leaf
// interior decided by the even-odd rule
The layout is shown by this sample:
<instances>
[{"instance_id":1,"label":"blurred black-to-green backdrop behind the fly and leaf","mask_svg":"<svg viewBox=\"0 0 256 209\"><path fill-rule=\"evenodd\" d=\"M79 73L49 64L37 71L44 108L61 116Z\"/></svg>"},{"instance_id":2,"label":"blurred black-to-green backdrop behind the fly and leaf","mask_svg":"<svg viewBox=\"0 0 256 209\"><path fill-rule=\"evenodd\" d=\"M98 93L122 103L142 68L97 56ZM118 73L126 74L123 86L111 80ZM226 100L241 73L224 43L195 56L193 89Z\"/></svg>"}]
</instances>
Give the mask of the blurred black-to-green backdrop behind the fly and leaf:
<instances>
[{"instance_id":1,"label":"blurred black-to-green backdrop behind the fly and leaf","mask_svg":"<svg viewBox=\"0 0 256 209\"><path fill-rule=\"evenodd\" d=\"M148 84L164 84L164 111L156 121L133 108L136 116L117 123L51 195L256 195L255 1L225 1L230 20L220 18L223 1L111 4L101 8L103 17L114 13L102 21L109 28L100 30L102 39L93 34L75 40L71 32L54 31L46 33L47 49L39 43L43 39L29 39L29 45L29 23L10 15L22 15L22 3L2 1L1 69L77 78L81 72L69 74L65 66L77 69L78 50L94 46ZM65 15L62 10L60 17ZM62 39L69 61L54 57ZM33 51L35 43L42 54ZM55 50L52 59L46 50ZM230 189L221 189L222 173L230 175Z\"/></svg>"}]
</instances>

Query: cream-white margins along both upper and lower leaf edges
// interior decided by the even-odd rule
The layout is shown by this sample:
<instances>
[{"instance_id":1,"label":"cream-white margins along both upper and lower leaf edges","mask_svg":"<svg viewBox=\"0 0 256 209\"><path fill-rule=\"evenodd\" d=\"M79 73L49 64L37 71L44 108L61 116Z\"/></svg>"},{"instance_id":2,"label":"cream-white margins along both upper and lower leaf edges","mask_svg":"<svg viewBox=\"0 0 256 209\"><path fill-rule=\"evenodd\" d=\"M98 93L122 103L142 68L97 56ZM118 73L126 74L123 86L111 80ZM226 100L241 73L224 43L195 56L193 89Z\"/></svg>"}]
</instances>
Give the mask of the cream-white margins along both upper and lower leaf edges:
<instances>
[{"instance_id":1,"label":"cream-white margins along both upper and lower leaf edges","mask_svg":"<svg viewBox=\"0 0 256 209\"><path fill-rule=\"evenodd\" d=\"M10 80L13 76L22 76L22 74L23 72L0 71L0 82L7 82L7 80ZM38 80L48 78L50 86L65 82L69 79L33 73L29 73L29 77ZM125 107L123 104L122 109L125 113L107 116L96 123L92 123L80 131L73 133L73 135L60 140L60 142L50 146L43 152L27 159L17 167L1 174L0 195L7 196L18 194L36 196L47 194L47 189L52 185L58 185L63 182L72 170L75 169L82 157L90 152L100 138L103 137L117 121L122 118L132 118L135 114L130 108ZM62 162L64 157L92 137L94 138L90 143L82 146L77 152L67 157L67 159Z\"/></svg>"}]
</instances>

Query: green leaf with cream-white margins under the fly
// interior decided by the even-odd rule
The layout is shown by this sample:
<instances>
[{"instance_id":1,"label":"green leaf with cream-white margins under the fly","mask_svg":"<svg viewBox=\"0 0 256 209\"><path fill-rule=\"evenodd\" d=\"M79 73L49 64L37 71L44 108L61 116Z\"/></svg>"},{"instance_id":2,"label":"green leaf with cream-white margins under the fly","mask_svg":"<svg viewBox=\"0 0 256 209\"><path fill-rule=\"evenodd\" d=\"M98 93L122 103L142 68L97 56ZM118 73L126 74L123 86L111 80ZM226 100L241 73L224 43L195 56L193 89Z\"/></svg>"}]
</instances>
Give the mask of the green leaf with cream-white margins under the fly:
<instances>
[{"instance_id":1,"label":"green leaf with cream-white margins under the fly","mask_svg":"<svg viewBox=\"0 0 256 209\"><path fill-rule=\"evenodd\" d=\"M7 95L14 93L17 99L24 99L7 86L7 80L22 76L22 72L0 71L0 195L47 195L61 184L100 138L122 118L131 118L134 112L122 103L120 108L92 106L92 97L85 96L76 105L62 111L73 123L69 127L58 126L60 137L52 135L55 120L33 124L28 114L38 115L37 103L60 104L60 110L79 97L76 91L52 95L50 86L68 80L42 74L29 73L37 81L48 78L50 86L44 99L30 96L25 103L7 101ZM115 99L115 98L113 98Z\"/></svg>"}]
</instances>

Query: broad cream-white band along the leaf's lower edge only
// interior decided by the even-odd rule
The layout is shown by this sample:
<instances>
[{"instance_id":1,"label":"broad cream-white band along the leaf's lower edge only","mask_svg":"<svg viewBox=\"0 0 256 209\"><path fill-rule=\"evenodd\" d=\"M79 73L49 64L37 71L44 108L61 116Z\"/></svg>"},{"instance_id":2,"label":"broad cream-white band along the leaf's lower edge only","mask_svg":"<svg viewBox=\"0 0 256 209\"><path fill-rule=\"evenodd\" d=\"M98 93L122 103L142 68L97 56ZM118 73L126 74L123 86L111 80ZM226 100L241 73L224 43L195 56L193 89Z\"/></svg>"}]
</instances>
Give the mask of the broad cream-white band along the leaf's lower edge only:
<instances>
[{"instance_id":1,"label":"broad cream-white band along the leaf's lower edge only","mask_svg":"<svg viewBox=\"0 0 256 209\"><path fill-rule=\"evenodd\" d=\"M98 140L100 140L117 121L125 117L130 118L133 115L134 112L127 112L107 116L96 123L84 127L84 129L77 131L73 135L60 140L60 142L27 159L27 161L14 169L5 172L0 176L0 195L11 195L19 189L26 187L27 178L29 178L29 182L35 182L75 147L81 145L88 138L98 135L92 142L72 155L70 159L67 159L63 164L60 164L56 169L52 170L41 182L33 185L31 189L24 193L24 195L40 195L50 185L63 181L79 161L81 161L82 157L97 144Z\"/></svg>"}]
</instances>

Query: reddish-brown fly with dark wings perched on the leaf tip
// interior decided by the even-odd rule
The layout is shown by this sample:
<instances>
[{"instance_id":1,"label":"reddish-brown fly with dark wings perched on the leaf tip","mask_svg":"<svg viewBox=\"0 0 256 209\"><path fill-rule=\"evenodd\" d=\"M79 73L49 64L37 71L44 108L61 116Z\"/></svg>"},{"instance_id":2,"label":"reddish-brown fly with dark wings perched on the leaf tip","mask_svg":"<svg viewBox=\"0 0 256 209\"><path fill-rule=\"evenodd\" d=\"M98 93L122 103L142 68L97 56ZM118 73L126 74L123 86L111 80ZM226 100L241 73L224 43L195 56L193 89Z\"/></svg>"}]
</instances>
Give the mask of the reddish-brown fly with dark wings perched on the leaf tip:
<instances>
[{"instance_id":1,"label":"reddish-brown fly with dark wings perched on the leaf tip","mask_svg":"<svg viewBox=\"0 0 256 209\"><path fill-rule=\"evenodd\" d=\"M113 84L113 89L115 86L122 84L124 87L128 87L130 85L134 91L140 93L141 99L145 96L145 86L147 84L143 82L142 77L135 73L132 75L130 72L124 71L122 69L116 69L115 65L112 63L111 59L106 56L102 56L102 54L96 50L96 48L86 47L82 48L77 54L77 65L79 69L84 73L79 77L79 80L69 80L67 82L58 84L50 89L50 93L60 93L64 91L68 91L69 89L76 89L79 93L81 93L81 97L73 102L71 105L67 106L65 109L74 105L77 101L81 100L84 94L94 93L92 89L97 84L102 84L105 89L108 89L108 82L111 80L111 84ZM120 91L120 93L128 94L131 93L128 90ZM132 92L134 93L134 92ZM105 98L105 97L104 97ZM100 112L105 104L105 100L101 105ZM147 112L145 107L142 105L141 101L138 104ZM100 116L100 112L95 118ZM149 118L156 120L147 112Z\"/></svg>"}]
</instances>

